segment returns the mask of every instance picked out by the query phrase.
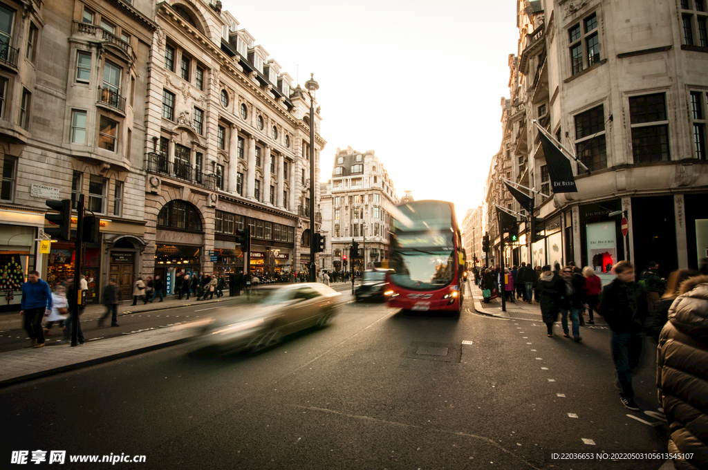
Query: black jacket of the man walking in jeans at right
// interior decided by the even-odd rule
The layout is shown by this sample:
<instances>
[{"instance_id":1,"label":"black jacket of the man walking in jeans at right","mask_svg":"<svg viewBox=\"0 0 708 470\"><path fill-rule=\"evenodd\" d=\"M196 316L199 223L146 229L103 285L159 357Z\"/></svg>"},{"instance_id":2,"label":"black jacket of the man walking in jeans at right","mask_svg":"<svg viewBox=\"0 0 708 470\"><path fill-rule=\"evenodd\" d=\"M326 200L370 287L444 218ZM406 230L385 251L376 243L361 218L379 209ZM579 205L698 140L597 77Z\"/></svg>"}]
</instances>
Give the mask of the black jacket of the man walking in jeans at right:
<instances>
[{"instance_id":1,"label":"black jacket of the man walking in jeans at right","mask_svg":"<svg viewBox=\"0 0 708 470\"><path fill-rule=\"evenodd\" d=\"M603 289L600 314L615 333L641 332L649 315L644 289L636 282L613 280Z\"/></svg>"}]
</instances>

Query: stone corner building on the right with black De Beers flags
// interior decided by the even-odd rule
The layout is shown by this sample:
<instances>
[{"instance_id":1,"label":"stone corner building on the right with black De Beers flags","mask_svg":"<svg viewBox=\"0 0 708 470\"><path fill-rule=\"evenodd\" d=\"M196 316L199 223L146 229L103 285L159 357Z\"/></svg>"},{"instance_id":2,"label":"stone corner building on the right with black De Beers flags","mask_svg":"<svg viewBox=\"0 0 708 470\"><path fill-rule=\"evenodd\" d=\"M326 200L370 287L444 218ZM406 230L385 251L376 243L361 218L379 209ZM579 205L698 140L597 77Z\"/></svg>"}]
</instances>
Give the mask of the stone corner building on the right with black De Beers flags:
<instances>
[{"instance_id":1,"label":"stone corner building on the right with black De Beers flags","mask_svg":"<svg viewBox=\"0 0 708 470\"><path fill-rule=\"evenodd\" d=\"M708 255L708 38L704 2L518 1L510 59L515 180L535 195L539 241L506 254L534 265L629 259L661 275ZM577 193L553 193L534 121L573 152ZM518 204L513 202L518 210ZM611 213L619 213L619 216ZM622 236L626 217L627 236ZM522 231L525 225L521 226Z\"/></svg>"}]
</instances>

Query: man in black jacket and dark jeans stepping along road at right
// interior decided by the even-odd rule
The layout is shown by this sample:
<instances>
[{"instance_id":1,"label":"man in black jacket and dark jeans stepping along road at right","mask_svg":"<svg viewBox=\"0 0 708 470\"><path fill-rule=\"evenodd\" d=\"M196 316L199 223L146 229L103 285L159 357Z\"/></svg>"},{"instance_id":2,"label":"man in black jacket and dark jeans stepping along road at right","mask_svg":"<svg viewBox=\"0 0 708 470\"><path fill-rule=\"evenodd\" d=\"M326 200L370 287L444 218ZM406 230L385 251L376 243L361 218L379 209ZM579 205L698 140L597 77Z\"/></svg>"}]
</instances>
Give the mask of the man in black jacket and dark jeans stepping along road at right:
<instances>
[{"instance_id":1,"label":"man in black jacket and dark jeans stepping along road at right","mask_svg":"<svg viewBox=\"0 0 708 470\"><path fill-rule=\"evenodd\" d=\"M632 374L639 366L649 309L644 290L634 282L634 265L623 260L612 269L617 277L603 288L600 313L612 330L612 358L619 382L619 399L626 408L639 411L634 402Z\"/></svg>"}]
</instances>

